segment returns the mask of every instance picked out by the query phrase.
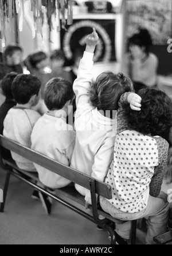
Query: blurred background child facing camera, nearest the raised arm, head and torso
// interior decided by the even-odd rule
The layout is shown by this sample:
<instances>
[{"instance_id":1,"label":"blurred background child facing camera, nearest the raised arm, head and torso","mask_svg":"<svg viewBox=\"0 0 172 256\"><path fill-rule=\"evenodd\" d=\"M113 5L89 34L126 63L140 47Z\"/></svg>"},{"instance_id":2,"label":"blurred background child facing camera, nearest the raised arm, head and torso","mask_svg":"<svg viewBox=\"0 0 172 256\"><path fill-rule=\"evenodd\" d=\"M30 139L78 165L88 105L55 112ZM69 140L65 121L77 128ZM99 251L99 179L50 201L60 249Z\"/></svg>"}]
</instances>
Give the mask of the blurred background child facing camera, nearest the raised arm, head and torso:
<instances>
[{"instance_id":1,"label":"blurred background child facing camera, nearest the raised arm, head and torso","mask_svg":"<svg viewBox=\"0 0 172 256\"><path fill-rule=\"evenodd\" d=\"M61 77L71 83L73 82L71 74L64 70L65 55L62 50L54 50L50 55L50 61L52 65L52 77Z\"/></svg>"}]
</instances>

